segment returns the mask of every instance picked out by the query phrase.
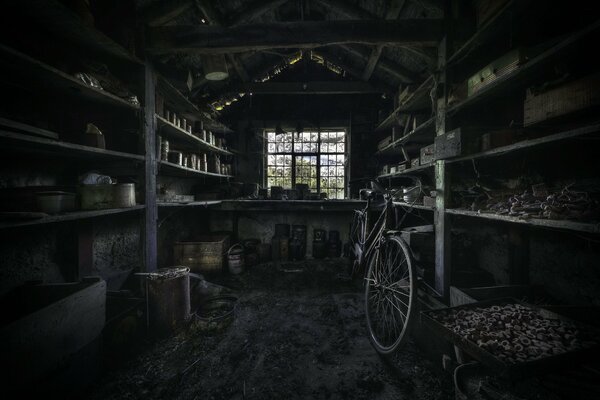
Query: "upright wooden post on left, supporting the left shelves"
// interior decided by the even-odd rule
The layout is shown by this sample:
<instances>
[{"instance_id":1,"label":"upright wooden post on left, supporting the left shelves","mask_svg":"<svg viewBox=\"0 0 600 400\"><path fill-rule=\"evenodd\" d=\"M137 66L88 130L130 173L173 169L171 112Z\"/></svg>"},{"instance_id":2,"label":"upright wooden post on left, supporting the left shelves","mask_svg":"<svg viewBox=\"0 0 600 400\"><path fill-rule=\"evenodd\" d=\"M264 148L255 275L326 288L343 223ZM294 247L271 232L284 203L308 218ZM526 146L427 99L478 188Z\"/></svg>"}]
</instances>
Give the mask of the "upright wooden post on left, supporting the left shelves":
<instances>
[{"instance_id":1,"label":"upright wooden post on left, supporting the left shelves","mask_svg":"<svg viewBox=\"0 0 600 400\"><path fill-rule=\"evenodd\" d=\"M144 270L157 269L158 207L156 205L156 117L155 117L156 74L146 63L144 71L144 194L146 209L144 215Z\"/></svg>"}]
</instances>

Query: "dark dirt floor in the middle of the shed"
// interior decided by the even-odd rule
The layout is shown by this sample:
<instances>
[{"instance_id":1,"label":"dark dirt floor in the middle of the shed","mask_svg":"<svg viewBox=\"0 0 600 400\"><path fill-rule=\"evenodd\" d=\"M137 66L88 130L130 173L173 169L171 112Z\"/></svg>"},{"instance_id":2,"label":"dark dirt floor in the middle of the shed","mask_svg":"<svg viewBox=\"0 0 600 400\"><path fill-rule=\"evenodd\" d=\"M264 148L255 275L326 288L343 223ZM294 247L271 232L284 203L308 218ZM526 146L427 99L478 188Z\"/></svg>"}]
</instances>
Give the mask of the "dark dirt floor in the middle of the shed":
<instances>
[{"instance_id":1,"label":"dark dirt floor in the middle of the shed","mask_svg":"<svg viewBox=\"0 0 600 400\"><path fill-rule=\"evenodd\" d=\"M89 399L451 399L413 345L384 363L366 336L360 286L339 262L272 264L222 279L239 301L226 327L151 342Z\"/></svg>"}]
</instances>

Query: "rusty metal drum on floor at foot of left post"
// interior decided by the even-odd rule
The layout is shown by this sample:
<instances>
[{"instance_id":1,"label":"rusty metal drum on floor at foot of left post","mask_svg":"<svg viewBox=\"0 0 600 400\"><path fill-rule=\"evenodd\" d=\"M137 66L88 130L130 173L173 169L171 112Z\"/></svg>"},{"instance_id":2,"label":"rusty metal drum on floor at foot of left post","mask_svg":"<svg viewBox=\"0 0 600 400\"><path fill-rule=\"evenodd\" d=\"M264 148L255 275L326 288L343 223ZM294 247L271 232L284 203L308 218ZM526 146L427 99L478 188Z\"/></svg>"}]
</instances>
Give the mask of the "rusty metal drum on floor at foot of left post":
<instances>
[{"instance_id":1,"label":"rusty metal drum on floor at foot of left post","mask_svg":"<svg viewBox=\"0 0 600 400\"><path fill-rule=\"evenodd\" d=\"M172 333L190 318L190 269L161 268L147 274L148 313L154 334Z\"/></svg>"}]
</instances>

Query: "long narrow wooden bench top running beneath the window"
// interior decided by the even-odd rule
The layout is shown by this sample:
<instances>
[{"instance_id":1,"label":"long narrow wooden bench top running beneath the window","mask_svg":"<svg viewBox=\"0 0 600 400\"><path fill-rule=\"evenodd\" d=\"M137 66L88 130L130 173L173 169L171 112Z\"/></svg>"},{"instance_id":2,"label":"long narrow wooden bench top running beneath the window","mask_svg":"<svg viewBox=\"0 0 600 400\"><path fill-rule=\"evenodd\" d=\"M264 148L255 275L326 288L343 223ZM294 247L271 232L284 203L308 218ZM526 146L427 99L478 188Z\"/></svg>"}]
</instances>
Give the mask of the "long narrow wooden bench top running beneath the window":
<instances>
[{"instance_id":1,"label":"long narrow wooden bench top running beneath the window","mask_svg":"<svg viewBox=\"0 0 600 400\"><path fill-rule=\"evenodd\" d=\"M353 211L364 208L362 200L223 200L221 211Z\"/></svg>"}]
</instances>

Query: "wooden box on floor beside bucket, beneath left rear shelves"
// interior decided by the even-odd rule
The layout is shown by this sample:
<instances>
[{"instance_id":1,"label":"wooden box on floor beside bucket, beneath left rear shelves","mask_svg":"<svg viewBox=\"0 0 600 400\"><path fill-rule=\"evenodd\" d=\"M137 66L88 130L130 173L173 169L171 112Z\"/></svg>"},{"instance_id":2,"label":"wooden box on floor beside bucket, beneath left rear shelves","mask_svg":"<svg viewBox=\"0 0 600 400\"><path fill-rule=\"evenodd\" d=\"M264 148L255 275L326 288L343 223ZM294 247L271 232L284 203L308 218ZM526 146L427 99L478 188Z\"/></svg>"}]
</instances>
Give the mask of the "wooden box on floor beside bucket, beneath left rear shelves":
<instances>
[{"instance_id":1,"label":"wooden box on floor beside bucket, beneath left rear shelves","mask_svg":"<svg viewBox=\"0 0 600 400\"><path fill-rule=\"evenodd\" d=\"M173 259L176 264L185 265L192 272L218 273L223 270L227 249L229 249L229 235L204 235L196 241L175 243Z\"/></svg>"}]
</instances>

